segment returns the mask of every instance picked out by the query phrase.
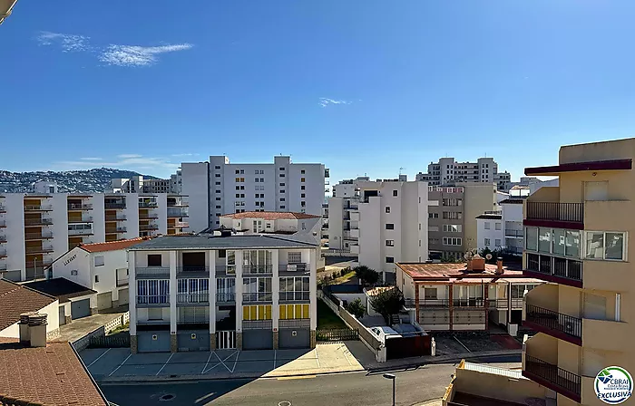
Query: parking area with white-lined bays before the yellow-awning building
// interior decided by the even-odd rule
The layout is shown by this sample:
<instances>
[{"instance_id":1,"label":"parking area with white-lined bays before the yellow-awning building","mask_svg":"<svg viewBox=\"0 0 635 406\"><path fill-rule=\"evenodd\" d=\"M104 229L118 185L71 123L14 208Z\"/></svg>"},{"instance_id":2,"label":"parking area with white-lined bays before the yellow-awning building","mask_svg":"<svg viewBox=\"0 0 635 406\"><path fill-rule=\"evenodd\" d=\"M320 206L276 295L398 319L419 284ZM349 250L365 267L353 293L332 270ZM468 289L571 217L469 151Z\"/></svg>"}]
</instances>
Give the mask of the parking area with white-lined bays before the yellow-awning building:
<instances>
[{"instance_id":1,"label":"parking area with white-lined bays before the yellow-awning building","mask_svg":"<svg viewBox=\"0 0 635 406\"><path fill-rule=\"evenodd\" d=\"M350 343L360 345L361 343ZM137 353L128 348L94 348L80 353L97 382L126 377L208 378L280 376L362 370L349 343L320 344L313 350L216 350L185 353ZM363 344L361 344L363 345Z\"/></svg>"}]
</instances>

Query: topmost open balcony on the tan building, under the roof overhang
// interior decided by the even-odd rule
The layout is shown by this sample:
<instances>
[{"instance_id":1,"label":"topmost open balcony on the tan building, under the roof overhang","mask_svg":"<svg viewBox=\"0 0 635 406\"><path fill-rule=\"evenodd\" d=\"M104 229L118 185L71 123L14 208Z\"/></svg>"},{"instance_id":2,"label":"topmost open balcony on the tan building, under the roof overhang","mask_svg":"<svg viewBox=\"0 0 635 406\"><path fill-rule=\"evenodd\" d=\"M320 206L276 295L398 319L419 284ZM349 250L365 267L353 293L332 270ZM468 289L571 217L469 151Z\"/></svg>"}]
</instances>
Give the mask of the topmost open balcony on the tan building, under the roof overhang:
<instances>
[{"instance_id":1,"label":"topmost open balcony on the tan building, under the roof overhang","mask_svg":"<svg viewBox=\"0 0 635 406\"><path fill-rule=\"evenodd\" d=\"M523 225L538 227L584 228L583 203L527 201Z\"/></svg>"}]
</instances>

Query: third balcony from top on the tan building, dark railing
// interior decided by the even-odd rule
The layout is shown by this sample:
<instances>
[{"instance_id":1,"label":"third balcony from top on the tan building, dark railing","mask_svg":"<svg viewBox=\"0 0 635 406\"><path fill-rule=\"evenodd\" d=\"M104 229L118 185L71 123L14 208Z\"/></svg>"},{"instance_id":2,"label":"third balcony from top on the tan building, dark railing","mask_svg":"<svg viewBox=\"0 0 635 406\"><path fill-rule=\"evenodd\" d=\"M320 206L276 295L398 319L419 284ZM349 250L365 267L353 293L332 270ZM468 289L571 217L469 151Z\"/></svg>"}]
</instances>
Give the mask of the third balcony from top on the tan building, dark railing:
<instances>
[{"instance_id":1,"label":"third balcony from top on the tan building, dark railing","mask_svg":"<svg viewBox=\"0 0 635 406\"><path fill-rule=\"evenodd\" d=\"M579 317L526 304L523 326L569 343L582 344L582 319Z\"/></svg>"}]
</instances>

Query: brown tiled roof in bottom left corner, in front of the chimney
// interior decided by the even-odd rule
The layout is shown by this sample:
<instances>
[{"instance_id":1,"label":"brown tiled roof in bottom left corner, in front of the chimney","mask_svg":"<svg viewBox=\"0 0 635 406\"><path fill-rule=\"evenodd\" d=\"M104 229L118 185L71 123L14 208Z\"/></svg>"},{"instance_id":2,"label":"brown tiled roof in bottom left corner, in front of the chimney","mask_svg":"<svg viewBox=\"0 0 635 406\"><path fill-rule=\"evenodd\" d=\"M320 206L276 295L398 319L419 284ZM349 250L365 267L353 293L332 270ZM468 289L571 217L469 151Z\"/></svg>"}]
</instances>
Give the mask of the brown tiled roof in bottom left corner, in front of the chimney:
<instances>
[{"instance_id":1,"label":"brown tiled roof in bottom left corner, in front of the chimney","mask_svg":"<svg viewBox=\"0 0 635 406\"><path fill-rule=\"evenodd\" d=\"M108 405L68 342L25 347L0 339L0 403Z\"/></svg>"}]
</instances>

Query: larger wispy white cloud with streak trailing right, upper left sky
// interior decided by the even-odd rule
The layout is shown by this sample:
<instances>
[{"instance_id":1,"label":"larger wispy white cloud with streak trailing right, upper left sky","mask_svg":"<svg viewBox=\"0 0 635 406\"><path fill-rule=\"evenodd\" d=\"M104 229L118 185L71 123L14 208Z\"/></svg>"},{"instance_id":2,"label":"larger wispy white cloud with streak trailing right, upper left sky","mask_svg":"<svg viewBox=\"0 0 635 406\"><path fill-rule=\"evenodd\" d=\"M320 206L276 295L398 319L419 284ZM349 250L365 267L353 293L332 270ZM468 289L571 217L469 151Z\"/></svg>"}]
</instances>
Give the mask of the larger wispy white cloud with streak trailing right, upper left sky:
<instances>
[{"instance_id":1,"label":"larger wispy white cloud with streak trailing right, upper left sky","mask_svg":"<svg viewBox=\"0 0 635 406\"><path fill-rule=\"evenodd\" d=\"M99 60L117 66L147 66L158 61L161 53L185 51L192 47L191 43L178 43L161 46L109 45L99 55Z\"/></svg>"}]
</instances>

